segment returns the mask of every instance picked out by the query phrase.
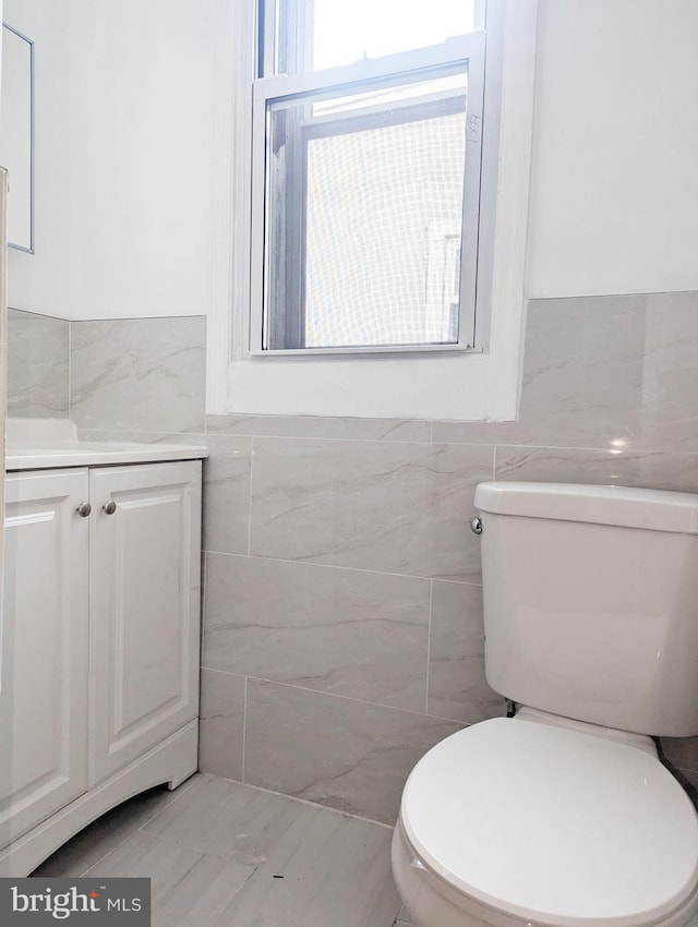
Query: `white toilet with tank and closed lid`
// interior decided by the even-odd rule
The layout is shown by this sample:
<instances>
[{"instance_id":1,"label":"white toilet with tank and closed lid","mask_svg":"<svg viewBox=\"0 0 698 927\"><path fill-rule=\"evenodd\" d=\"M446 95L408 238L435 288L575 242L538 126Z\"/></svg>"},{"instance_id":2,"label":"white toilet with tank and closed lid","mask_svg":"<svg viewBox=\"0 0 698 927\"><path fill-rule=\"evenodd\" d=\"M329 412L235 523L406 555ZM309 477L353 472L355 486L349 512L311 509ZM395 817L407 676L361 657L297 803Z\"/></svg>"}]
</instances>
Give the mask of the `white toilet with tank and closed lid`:
<instances>
[{"instance_id":1,"label":"white toilet with tank and closed lid","mask_svg":"<svg viewBox=\"0 0 698 927\"><path fill-rule=\"evenodd\" d=\"M488 682L393 835L416 927L649 927L698 912L698 817L657 736L698 734L698 495L481 483Z\"/></svg>"}]
</instances>

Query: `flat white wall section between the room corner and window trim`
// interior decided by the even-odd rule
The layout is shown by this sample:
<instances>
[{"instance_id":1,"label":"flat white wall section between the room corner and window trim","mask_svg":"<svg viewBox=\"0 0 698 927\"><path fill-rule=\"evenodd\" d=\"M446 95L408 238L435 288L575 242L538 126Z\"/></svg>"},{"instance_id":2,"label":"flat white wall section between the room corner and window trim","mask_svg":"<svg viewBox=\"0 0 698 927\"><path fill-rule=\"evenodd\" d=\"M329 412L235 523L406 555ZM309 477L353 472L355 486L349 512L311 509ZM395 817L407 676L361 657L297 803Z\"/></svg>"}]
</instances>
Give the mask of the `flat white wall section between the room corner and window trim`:
<instances>
[{"instance_id":1,"label":"flat white wall section between the room corner and window trim","mask_svg":"<svg viewBox=\"0 0 698 927\"><path fill-rule=\"evenodd\" d=\"M71 0L73 318L208 310L214 8Z\"/></svg>"}]
</instances>

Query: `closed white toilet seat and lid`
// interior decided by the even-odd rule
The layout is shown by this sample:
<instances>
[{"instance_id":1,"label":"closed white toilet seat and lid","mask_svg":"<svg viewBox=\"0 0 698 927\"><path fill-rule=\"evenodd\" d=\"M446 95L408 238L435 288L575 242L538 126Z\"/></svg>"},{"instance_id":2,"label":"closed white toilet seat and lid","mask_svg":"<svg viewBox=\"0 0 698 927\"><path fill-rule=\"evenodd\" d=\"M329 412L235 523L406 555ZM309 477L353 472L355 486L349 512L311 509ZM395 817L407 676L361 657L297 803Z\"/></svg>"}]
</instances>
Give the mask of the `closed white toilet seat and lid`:
<instances>
[{"instance_id":1,"label":"closed white toilet seat and lid","mask_svg":"<svg viewBox=\"0 0 698 927\"><path fill-rule=\"evenodd\" d=\"M400 824L450 889L555 927L663 923L696 895L698 818L645 750L524 720L447 737L414 767Z\"/></svg>"}]
</instances>

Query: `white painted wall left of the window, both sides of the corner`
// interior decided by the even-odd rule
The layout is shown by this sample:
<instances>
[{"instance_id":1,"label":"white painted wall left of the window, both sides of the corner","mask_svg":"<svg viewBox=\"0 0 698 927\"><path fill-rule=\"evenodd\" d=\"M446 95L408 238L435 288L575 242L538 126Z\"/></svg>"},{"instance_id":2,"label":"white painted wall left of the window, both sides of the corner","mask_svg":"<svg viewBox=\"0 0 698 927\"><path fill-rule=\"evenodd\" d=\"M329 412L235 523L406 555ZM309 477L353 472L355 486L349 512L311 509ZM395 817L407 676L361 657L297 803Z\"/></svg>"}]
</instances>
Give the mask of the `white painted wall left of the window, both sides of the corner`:
<instances>
[{"instance_id":1,"label":"white painted wall left of the window, both sides of the corner","mask_svg":"<svg viewBox=\"0 0 698 927\"><path fill-rule=\"evenodd\" d=\"M11 305L207 312L215 7L7 0L36 48L36 254L10 254Z\"/></svg>"}]
</instances>

